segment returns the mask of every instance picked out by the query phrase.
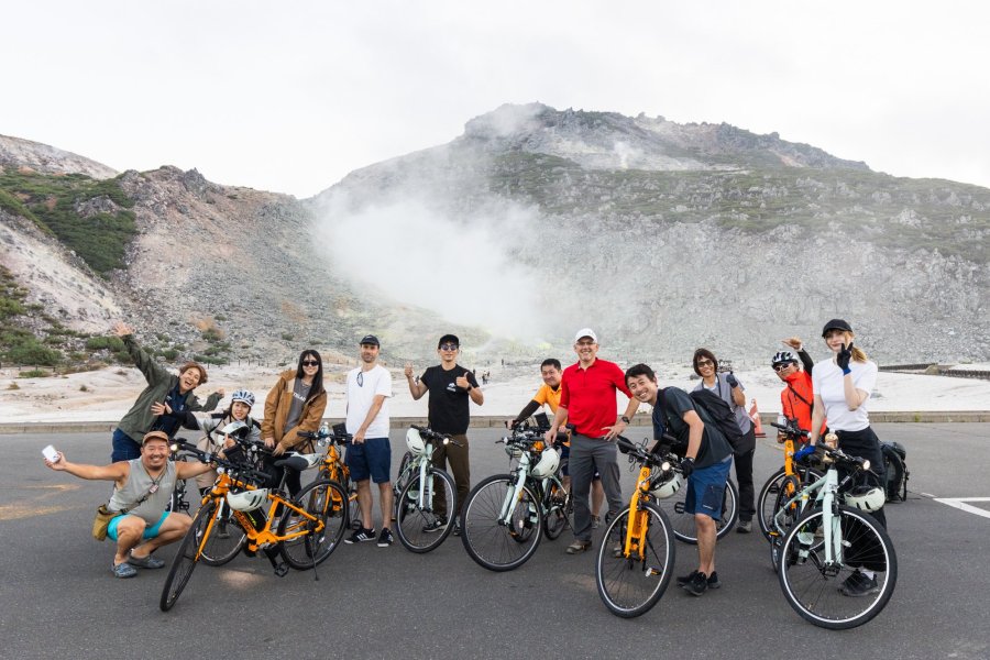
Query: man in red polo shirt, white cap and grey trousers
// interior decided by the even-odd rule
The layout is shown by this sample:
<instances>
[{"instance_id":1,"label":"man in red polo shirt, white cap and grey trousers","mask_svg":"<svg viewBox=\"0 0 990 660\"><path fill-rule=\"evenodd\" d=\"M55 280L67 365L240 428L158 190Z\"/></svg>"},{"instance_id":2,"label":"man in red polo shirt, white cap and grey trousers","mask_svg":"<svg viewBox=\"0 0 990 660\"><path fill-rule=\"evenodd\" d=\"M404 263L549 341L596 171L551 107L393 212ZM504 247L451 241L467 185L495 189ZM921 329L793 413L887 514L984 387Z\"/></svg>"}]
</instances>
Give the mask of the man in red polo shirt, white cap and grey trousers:
<instances>
[{"instance_id":1,"label":"man in red polo shirt, white cap and grey trousers","mask_svg":"<svg viewBox=\"0 0 990 660\"><path fill-rule=\"evenodd\" d=\"M592 520L587 494L596 470L602 475L608 502L606 521L623 510L618 461L613 440L625 430L639 408L639 399L629 394L623 370L614 362L597 359L598 338L591 328L578 331L574 352L578 353L578 363L564 370L560 404L546 436L547 442L552 443L565 419L574 429L568 463L574 495L574 542L568 546L568 554L578 554L591 548ZM618 419L616 391L629 397L626 411Z\"/></svg>"}]
</instances>

